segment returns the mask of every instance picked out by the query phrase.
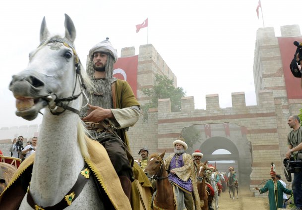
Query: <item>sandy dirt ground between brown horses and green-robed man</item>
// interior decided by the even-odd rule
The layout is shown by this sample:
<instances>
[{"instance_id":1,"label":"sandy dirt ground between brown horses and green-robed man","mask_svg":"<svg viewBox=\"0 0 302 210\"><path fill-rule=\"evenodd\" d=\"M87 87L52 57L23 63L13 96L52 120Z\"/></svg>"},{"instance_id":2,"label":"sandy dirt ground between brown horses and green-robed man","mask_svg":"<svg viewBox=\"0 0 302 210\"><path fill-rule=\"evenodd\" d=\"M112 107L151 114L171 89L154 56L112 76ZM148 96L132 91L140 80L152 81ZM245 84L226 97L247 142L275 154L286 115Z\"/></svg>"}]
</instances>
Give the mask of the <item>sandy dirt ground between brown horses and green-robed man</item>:
<instances>
[{"instance_id":1,"label":"sandy dirt ground between brown horses and green-robed man","mask_svg":"<svg viewBox=\"0 0 302 210\"><path fill-rule=\"evenodd\" d=\"M238 188L238 199L231 199L229 192L221 193L218 210L269 210L267 198L257 198L248 187Z\"/></svg>"}]
</instances>

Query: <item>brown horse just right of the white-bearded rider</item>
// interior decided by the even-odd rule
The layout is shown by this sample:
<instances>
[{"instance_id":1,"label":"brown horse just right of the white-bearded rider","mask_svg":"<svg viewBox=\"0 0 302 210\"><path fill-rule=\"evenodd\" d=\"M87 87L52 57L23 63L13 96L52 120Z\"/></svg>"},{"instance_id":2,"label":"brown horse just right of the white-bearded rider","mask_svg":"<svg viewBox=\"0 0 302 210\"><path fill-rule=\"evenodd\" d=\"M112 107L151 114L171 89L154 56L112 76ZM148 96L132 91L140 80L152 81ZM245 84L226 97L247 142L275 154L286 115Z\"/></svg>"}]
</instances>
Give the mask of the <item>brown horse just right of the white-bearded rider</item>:
<instances>
[{"instance_id":1,"label":"brown horse just right of the white-bearded rider","mask_svg":"<svg viewBox=\"0 0 302 210\"><path fill-rule=\"evenodd\" d=\"M208 210L209 207L209 191L207 191L207 186L205 184L205 169L207 161L204 163L200 162L197 165L197 190L200 199L200 208L202 210ZM212 199L211 199L212 202Z\"/></svg>"}]
</instances>

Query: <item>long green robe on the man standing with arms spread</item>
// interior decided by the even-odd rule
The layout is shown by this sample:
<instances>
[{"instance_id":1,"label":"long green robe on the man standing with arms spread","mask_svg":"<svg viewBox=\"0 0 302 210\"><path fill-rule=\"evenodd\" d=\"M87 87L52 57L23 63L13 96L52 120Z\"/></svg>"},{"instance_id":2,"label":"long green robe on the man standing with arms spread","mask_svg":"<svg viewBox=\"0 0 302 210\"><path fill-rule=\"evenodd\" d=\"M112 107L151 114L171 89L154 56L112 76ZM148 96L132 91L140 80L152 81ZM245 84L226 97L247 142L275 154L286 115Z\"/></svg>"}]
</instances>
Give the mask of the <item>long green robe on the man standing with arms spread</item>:
<instances>
[{"instance_id":1,"label":"long green robe on the man standing with arms spread","mask_svg":"<svg viewBox=\"0 0 302 210\"><path fill-rule=\"evenodd\" d=\"M274 181L268 180L265 186L259 189L260 194L268 191L269 210L283 208L283 193L292 195L292 190L286 189L281 182L277 181L277 191L274 190ZM277 194L277 196L276 196ZM278 207L278 208L277 208Z\"/></svg>"}]
</instances>

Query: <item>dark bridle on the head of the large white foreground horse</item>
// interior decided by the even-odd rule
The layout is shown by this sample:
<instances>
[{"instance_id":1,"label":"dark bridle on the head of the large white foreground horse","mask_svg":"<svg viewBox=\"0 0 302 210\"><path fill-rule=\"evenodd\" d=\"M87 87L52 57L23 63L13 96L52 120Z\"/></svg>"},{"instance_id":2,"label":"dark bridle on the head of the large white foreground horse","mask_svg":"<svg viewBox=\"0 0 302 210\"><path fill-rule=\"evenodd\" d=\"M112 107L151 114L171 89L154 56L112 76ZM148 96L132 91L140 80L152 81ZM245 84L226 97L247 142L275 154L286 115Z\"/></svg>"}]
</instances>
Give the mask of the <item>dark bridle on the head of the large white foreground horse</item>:
<instances>
[{"instance_id":1,"label":"dark bridle on the head of the large white foreground horse","mask_svg":"<svg viewBox=\"0 0 302 210\"><path fill-rule=\"evenodd\" d=\"M58 98L56 93L50 93L48 96L45 96L45 97L42 97L42 98L45 99L48 102L48 105L50 107L50 111L54 115L60 115L61 113L63 113L66 110L69 110L69 111L72 111L76 114L79 114L80 113L79 110L68 106L68 104L69 104L69 102L77 99L80 95L82 95L84 89L86 89L84 79L81 75L81 65L80 65L81 62L80 62L79 56L75 52L74 46L70 42L68 42L67 40L64 40L64 39L61 39L61 38L52 37L48 40L44 40L44 41L41 42L41 44L39 45L38 48L40 48L41 46L45 46L48 43L55 43L55 42L62 43L65 47L70 48L72 50L73 54L74 54L74 66L75 66L75 72L76 72L75 84L74 84L74 88L73 88L73 91L72 91L72 95L67 97L67 98ZM81 84L81 92L77 95L74 95L78 79L79 79L79 82ZM63 102L68 102L68 103L63 104ZM60 112L56 111L58 107L63 108L63 111L60 111Z\"/></svg>"}]
</instances>

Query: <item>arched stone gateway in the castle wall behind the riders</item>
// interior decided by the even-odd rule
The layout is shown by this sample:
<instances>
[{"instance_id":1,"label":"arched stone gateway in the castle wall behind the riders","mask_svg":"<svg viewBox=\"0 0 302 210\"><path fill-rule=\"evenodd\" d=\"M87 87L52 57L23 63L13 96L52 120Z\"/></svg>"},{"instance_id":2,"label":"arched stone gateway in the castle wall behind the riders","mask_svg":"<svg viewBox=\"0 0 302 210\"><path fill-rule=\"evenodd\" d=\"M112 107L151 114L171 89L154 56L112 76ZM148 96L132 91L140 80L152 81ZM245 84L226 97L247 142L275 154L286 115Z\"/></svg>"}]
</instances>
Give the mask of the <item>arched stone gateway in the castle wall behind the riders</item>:
<instances>
[{"instance_id":1,"label":"arched stone gateway in the castle wall behind the riders","mask_svg":"<svg viewBox=\"0 0 302 210\"><path fill-rule=\"evenodd\" d=\"M249 185L252 154L245 130L245 127L235 123L211 123L191 125L182 133L187 143L191 144L191 150L202 152L203 161L219 161L217 168L221 172L228 171L229 166L235 167L240 184ZM220 149L230 154L214 153Z\"/></svg>"}]
</instances>

